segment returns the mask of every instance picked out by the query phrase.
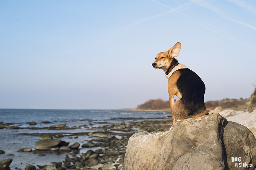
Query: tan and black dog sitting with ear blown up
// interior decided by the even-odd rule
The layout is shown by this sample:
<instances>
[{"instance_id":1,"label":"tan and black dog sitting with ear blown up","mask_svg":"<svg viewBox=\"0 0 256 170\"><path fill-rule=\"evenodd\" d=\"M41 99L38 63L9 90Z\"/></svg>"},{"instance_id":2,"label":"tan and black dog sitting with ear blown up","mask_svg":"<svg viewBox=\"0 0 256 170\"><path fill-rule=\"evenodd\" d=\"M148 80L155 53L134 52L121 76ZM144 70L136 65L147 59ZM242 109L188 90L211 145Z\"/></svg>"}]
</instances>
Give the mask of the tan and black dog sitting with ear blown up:
<instances>
[{"instance_id":1,"label":"tan and black dog sitting with ear blown up","mask_svg":"<svg viewBox=\"0 0 256 170\"><path fill-rule=\"evenodd\" d=\"M180 48L181 44L177 42L168 51L157 54L156 61L152 64L155 69L163 69L168 79L172 127L178 121L201 117L210 111L204 105L204 82L195 72L175 59ZM174 101L174 95L180 100Z\"/></svg>"}]
</instances>

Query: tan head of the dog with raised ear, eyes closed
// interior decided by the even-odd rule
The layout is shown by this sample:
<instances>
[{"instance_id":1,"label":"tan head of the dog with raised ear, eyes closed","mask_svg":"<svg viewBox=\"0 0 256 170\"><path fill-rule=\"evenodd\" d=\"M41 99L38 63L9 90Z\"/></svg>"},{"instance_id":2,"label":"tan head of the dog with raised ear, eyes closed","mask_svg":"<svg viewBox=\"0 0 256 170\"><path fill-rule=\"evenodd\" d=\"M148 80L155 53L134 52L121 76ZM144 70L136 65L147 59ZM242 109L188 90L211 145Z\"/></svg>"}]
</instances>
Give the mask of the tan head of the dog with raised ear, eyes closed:
<instances>
[{"instance_id":1,"label":"tan head of the dog with raised ear, eyes closed","mask_svg":"<svg viewBox=\"0 0 256 170\"><path fill-rule=\"evenodd\" d=\"M178 60L176 60L174 57L178 56L180 48L180 42L177 42L168 51L157 54L156 61L152 64L152 66L155 69L163 69L165 74L167 74L172 65L178 63Z\"/></svg>"}]
</instances>

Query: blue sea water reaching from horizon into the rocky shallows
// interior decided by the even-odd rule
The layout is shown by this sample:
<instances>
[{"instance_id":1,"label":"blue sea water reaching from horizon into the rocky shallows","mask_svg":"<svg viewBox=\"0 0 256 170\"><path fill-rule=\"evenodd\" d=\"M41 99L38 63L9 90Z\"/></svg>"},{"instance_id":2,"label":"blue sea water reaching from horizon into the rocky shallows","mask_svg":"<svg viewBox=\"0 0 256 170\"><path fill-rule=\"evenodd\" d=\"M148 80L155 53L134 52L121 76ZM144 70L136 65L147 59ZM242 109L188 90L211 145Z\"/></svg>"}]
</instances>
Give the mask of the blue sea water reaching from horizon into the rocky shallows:
<instances>
[{"instance_id":1,"label":"blue sea water reaching from horizon into the rocky shallows","mask_svg":"<svg viewBox=\"0 0 256 170\"><path fill-rule=\"evenodd\" d=\"M130 110L43 110L43 109L0 109L0 124L9 124L9 126L19 127L49 127L56 124L66 124L66 126L82 126L86 124L89 128L98 127L113 123L138 122L144 120L163 120L168 114L163 112L144 112ZM29 125L29 122L36 122L36 125ZM41 122L50 122L42 124ZM66 153L56 154L56 152L42 152L45 156L38 156L32 152L17 152L21 148L31 148L35 150L35 142L39 141L40 136L34 133L75 133L75 132L94 132L97 130L88 130L87 128L71 129L71 130L47 130L47 129L0 129L0 150L5 153L0 154L0 161L12 158L9 166L11 170L15 168L24 169L26 164L31 165L50 165L51 162L59 162L65 158ZM136 129L135 129L136 131ZM115 132L115 131L113 131ZM118 131L120 132L120 131ZM29 133L31 135L24 135ZM116 136L118 138L118 136ZM79 136L78 138L68 138L64 136L60 138L70 145L78 142L80 144L79 153L86 153L88 150L104 149L101 147L81 148L88 140L95 137ZM68 154L69 157L71 155Z\"/></svg>"}]
</instances>

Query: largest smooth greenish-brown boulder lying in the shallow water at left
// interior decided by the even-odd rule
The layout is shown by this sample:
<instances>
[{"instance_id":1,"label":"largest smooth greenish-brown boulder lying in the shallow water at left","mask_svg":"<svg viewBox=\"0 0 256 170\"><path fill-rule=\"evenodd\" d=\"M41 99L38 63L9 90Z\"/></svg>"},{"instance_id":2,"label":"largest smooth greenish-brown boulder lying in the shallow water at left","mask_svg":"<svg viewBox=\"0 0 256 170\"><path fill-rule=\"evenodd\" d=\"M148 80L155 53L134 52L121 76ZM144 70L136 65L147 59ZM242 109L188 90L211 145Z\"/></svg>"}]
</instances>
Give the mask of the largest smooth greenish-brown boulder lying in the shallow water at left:
<instances>
[{"instance_id":1,"label":"largest smooth greenish-brown boulder lying in the shallow water at left","mask_svg":"<svg viewBox=\"0 0 256 170\"><path fill-rule=\"evenodd\" d=\"M55 147L67 146L69 142L62 141L60 139L45 139L39 140L35 143L37 150L49 150Z\"/></svg>"}]
</instances>

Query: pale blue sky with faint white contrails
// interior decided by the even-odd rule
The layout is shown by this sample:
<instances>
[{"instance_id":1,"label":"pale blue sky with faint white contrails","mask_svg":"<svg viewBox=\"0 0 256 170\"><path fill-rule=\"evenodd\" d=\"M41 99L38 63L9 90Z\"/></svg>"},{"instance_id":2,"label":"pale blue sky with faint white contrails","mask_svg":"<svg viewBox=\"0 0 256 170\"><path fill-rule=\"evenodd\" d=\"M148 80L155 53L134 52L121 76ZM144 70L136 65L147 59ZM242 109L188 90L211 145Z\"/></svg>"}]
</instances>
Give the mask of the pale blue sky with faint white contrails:
<instances>
[{"instance_id":1,"label":"pale blue sky with faint white contrails","mask_svg":"<svg viewBox=\"0 0 256 170\"><path fill-rule=\"evenodd\" d=\"M256 1L1 0L0 108L124 109L169 99L158 53L204 81L204 101L256 86Z\"/></svg>"}]
</instances>

